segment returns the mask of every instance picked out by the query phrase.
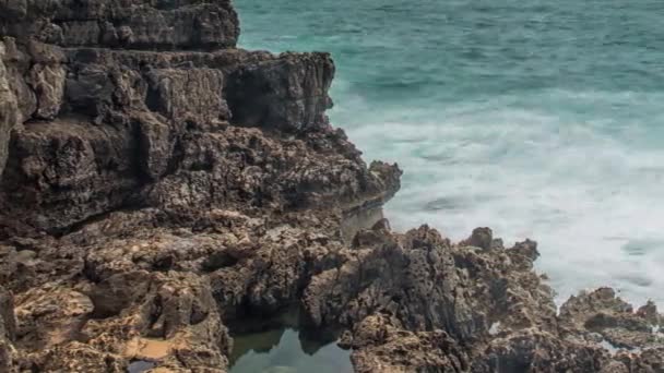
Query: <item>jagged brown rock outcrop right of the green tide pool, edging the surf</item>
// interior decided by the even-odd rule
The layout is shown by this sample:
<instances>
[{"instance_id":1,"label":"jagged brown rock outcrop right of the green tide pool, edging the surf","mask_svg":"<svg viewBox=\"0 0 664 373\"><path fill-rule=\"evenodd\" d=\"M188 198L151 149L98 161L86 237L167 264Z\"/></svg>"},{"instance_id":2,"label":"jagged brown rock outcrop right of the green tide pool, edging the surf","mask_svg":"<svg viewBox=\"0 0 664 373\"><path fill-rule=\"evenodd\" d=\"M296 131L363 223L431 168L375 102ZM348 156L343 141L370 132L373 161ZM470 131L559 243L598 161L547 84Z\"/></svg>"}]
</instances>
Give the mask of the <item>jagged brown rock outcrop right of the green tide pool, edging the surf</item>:
<instances>
[{"instance_id":1,"label":"jagged brown rock outcrop right of the green tide pool, edging the surf","mask_svg":"<svg viewBox=\"0 0 664 373\"><path fill-rule=\"evenodd\" d=\"M505 249L488 228L452 244L426 226L398 234L379 224L311 279L303 304L315 325L352 330L342 340L361 372L659 372L654 304L635 313L598 289L558 314L533 272L536 246Z\"/></svg>"}]
</instances>

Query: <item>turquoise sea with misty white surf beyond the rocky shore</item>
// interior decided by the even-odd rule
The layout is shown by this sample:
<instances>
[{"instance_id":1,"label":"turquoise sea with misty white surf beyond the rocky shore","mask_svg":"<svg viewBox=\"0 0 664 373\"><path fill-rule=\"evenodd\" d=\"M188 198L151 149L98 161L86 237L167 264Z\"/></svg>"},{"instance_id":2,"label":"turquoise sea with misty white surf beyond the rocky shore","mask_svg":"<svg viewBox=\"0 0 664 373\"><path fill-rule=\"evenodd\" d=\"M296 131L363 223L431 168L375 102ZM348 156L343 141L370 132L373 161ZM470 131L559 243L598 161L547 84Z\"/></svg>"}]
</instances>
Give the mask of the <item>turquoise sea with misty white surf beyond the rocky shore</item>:
<instances>
[{"instance_id":1,"label":"turquoise sea with misty white surf beyond the rocky shore","mask_svg":"<svg viewBox=\"0 0 664 373\"><path fill-rule=\"evenodd\" d=\"M540 242L562 301L664 305L664 2L235 0L240 46L332 53L333 123L396 161L399 230Z\"/></svg>"}]
</instances>

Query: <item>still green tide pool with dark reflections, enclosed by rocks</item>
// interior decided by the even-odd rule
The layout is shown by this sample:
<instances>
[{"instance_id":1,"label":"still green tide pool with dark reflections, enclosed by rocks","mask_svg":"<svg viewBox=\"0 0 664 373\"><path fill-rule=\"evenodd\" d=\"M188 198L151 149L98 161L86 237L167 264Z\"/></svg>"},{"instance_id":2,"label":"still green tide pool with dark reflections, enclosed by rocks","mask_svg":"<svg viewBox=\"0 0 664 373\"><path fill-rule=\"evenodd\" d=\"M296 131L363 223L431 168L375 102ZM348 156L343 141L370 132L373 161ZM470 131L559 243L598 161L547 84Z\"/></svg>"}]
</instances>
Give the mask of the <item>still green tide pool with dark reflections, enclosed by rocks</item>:
<instances>
[{"instance_id":1,"label":"still green tide pool with dark reflections, enclosed by rocks","mask_svg":"<svg viewBox=\"0 0 664 373\"><path fill-rule=\"evenodd\" d=\"M232 335L230 373L353 372L351 351L337 346L337 334L300 327L294 311L244 322Z\"/></svg>"}]
</instances>

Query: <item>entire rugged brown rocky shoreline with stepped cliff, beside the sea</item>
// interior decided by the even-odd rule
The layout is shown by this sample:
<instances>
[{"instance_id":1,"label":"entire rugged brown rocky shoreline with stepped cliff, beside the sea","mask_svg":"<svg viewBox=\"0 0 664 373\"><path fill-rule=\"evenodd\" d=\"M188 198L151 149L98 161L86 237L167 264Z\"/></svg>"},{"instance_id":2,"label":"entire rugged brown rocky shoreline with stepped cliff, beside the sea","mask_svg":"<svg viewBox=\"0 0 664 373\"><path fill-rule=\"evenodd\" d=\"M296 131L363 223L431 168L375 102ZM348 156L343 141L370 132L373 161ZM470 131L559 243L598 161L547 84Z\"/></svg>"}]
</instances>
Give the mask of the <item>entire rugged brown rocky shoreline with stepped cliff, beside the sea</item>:
<instances>
[{"instance_id":1,"label":"entire rugged brown rocky shoreline with stepped cliff, beside the sea","mask_svg":"<svg viewBox=\"0 0 664 373\"><path fill-rule=\"evenodd\" d=\"M0 2L0 372L226 372L294 305L357 372L664 372L655 305L558 310L534 241L392 231L331 57L238 35L228 0Z\"/></svg>"}]
</instances>

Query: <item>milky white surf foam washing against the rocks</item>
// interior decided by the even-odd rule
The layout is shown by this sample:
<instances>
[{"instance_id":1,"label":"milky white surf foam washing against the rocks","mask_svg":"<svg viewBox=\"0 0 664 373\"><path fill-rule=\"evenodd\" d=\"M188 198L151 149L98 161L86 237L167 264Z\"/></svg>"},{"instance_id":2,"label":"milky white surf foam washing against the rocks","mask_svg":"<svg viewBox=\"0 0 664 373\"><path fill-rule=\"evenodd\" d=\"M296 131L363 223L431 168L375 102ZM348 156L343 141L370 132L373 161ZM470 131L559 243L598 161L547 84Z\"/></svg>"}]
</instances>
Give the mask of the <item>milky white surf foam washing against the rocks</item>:
<instances>
[{"instance_id":1,"label":"milky white surf foam washing against the rocks","mask_svg":"<svg viewBox=\"0 0 664 373\"><path fill-rule=\"evenodd\" d=\"M652 100L630 93L540 95L601 107ZM346 125L366 158L405 170L402 191L387 206L392 225L426 222L456 240L477 226L507 242L533 238L543 254L538 269L552 278L558 301L607 285L630 301L664 305L664 148L650 132L660 118L633 116L624 125L610 115L509 101L369 113Z\"/></svg>"}]
</instances>

